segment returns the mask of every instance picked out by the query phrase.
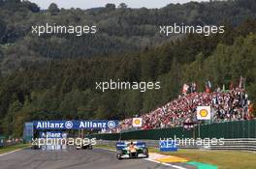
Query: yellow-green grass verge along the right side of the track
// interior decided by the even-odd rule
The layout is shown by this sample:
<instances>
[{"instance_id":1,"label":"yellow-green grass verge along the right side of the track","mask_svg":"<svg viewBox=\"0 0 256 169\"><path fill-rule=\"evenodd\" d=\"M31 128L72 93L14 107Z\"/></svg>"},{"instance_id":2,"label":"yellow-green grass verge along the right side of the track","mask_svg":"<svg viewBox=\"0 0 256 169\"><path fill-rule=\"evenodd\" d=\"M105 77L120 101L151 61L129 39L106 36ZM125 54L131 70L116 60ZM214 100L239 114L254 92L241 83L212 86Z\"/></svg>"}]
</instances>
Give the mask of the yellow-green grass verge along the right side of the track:
<instances>
[{"instance_id":1,"label":"yellow-green grass verge along the right side of the track","mask_svg":"<svg viewBox=\"0 0 256 169\"><path fill-rule=\"evenodd\" d=\"M98 146L100 148L114 149L111 146ZM160 153L158 149L149 148L150 153L162 155L176 155L189 161L197 161L218 166L219 169L255 169L256 153L242 151L201 151L179 149L174 153Z\"/></svg>"}]
</instances>

